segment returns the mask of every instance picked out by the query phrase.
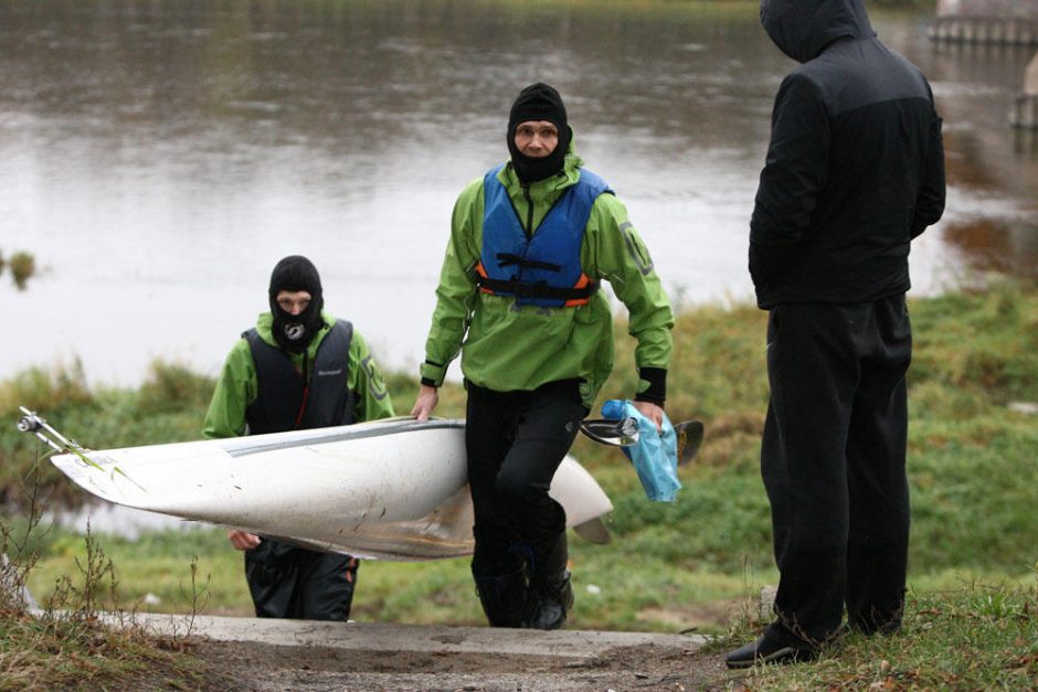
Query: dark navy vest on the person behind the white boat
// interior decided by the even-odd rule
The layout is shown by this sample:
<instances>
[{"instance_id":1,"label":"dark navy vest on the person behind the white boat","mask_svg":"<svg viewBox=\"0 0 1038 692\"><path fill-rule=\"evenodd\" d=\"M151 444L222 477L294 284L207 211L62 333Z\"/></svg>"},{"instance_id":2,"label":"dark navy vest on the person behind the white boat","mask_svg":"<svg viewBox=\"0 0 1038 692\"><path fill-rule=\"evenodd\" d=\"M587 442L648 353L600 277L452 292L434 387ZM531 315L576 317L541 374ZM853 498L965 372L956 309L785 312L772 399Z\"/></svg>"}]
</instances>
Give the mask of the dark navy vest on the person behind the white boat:
<instances>
[{"instance_id":1,"label":"dark navy vest on the person behind the white boat","mask_svg":"<svg viewBox=\"0 0 1038 692\"><path fill-rule=\"evenodd\" d=\"M245 409L250 435L353 423L353 393L347 386L353 326L336 320L325 334L308 373L288 354L264 341L255 328L242 334L256 366L256 401Z\"/></svg>"}]
</instances>

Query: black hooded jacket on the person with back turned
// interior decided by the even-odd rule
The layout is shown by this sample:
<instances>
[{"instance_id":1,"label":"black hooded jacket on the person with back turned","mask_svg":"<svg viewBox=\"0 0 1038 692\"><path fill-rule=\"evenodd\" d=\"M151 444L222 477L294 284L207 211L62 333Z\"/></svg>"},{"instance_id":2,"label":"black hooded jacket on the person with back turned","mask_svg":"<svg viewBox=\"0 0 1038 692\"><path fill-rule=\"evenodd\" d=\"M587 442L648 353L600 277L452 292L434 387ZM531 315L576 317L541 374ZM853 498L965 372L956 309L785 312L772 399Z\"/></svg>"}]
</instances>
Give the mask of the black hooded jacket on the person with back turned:
<instances>
[{"instance_id":1,"label":"black hooded jacket on the person with back turned","mask_svg":"<svg viewBox=\"0 0 1038 692\"><path fill-rule=\"evenodd\" d=\"M750 222L758 305L866 302L909 289L911 239L944 211L941 118L861 0L763 0L783 81Z\"/></svg>"}]
</instances>

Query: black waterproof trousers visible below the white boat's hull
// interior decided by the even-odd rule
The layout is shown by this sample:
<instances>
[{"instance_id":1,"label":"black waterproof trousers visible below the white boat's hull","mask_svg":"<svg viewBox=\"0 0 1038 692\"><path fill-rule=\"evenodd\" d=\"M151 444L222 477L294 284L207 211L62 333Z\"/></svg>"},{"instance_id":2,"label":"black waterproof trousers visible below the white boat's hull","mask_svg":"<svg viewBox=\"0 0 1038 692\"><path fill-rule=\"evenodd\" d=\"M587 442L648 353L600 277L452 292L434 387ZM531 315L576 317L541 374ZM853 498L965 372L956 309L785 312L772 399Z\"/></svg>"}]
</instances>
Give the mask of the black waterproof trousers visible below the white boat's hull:
<instances>
[{"instance_id":1,"label":"black waterproof trousers visible below the white boat's hull","mask_svg":"<svg viewBox=\"0 0 1038 692\"><path fill-rule=\"evenodd\" d=\"M256 617L347 620L358 561L267 537L245 551L245 578Z\"/></svg>"}]
</instances>

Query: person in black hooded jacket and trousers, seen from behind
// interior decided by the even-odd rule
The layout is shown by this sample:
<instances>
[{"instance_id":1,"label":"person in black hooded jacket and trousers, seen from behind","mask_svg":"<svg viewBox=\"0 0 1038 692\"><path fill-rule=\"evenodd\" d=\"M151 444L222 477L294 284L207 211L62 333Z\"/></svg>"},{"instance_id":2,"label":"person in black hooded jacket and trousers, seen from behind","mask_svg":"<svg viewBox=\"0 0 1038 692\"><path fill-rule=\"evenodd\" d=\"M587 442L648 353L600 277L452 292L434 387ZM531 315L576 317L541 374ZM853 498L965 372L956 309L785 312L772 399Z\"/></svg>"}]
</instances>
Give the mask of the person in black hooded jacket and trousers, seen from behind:
<instances>
[{"instance_id":1,"label":"person in black hooded jacket and trousers, seen from behind","mask_svg":"<svg viewBox=\"0 0 1038 692\"><path fill-rule=\"evenodd\" d=\"M802 63L783 81L750 222L769 311L761 469L780 571L776 620L730 668L815 657L843 628L900 628L908 565L904 376L912 238L944 211L930 85L861 0L763 0Z\"/></svg>"}]
</instances>

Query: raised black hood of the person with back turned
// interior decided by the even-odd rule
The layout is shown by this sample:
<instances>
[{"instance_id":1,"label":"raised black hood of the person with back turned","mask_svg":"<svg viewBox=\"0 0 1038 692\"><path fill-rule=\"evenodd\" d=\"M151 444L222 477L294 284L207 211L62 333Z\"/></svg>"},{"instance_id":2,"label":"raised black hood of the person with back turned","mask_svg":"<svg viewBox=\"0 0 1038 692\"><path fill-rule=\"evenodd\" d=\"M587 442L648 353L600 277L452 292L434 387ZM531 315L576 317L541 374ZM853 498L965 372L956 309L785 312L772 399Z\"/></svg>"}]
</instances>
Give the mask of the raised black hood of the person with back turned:
<instances>
[{"instance_id":1,"label":"raised black hood of the person with back turned","mask_svg":"<svg viewBox=\"0 0 1038 692\"><path fill-rule=\"evenodd\" d=\"M837 39L876 35L862 0L761 0L761 24L798 63L818 57Z\"/></svg>"}]
</instances>

